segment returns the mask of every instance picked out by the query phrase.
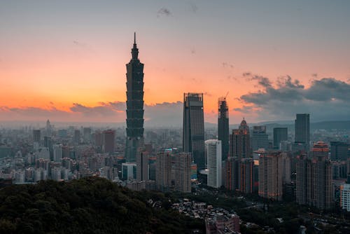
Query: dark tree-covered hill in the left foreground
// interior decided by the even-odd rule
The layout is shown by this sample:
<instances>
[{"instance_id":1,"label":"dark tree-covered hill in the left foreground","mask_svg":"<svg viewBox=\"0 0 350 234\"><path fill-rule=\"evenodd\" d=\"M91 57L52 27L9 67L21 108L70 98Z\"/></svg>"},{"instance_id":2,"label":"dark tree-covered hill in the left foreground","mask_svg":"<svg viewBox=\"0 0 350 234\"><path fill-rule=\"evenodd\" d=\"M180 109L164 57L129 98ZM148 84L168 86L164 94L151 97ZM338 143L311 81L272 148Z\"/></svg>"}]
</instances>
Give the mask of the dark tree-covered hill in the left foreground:
<instances>
[{"instance_id":1,"label":"dark tree-covered hill in the left foreground","mask_svg":"<svg viewBox=\"0 0 350 234\"><path fill-rule=\"evenodd\" d=\"M161 200L155 208L147 200ZM167 208L162 193L98 177L0 190L0 233L192 233L204 223Z\"/></svg>"}]
</instances>

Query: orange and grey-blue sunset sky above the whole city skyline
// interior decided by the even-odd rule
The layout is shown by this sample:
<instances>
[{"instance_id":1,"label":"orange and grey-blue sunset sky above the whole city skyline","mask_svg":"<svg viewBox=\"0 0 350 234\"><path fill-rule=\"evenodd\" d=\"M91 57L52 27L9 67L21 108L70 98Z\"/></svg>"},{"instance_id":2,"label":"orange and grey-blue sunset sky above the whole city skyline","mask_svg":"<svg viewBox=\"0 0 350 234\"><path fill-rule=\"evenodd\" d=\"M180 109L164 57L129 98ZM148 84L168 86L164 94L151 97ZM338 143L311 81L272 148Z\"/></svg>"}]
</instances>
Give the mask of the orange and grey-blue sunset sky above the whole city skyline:
<instances>
[{"instance_id":1,"label":"orange and grey-blue sunset sky above the whole city skyline","mask_svg":"<svg viewBox=\"0 0 350 234\"><path fill-rule=\"evenodd\" d=\"M350 1L0 0L0 121L125 121L134 32L147 123L349 120Z\"/></svg>"}]
</instances>

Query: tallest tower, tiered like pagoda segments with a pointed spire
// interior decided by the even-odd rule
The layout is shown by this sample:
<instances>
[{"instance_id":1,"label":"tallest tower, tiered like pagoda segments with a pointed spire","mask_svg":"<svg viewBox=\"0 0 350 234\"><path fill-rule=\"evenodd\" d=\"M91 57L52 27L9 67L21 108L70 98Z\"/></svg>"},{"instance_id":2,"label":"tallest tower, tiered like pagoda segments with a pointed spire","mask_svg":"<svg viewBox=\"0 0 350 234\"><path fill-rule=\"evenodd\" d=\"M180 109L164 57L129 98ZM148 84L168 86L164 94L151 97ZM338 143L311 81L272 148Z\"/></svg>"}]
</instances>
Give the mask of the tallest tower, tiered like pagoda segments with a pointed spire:
<instances>
[{"instance_id":1,"label":"tallest tower, tiered like pagoda segments with a pointed spire","mask_svg":"<svg viewBox=\"0 0 350 234\"><path fill-rule=\"evenodd\" d=\"M127 66L127 140L125 159L136 160L137 149L144 143L144 64L140 62L134 34L132 59Z\"/></svg>"}]
</instances>

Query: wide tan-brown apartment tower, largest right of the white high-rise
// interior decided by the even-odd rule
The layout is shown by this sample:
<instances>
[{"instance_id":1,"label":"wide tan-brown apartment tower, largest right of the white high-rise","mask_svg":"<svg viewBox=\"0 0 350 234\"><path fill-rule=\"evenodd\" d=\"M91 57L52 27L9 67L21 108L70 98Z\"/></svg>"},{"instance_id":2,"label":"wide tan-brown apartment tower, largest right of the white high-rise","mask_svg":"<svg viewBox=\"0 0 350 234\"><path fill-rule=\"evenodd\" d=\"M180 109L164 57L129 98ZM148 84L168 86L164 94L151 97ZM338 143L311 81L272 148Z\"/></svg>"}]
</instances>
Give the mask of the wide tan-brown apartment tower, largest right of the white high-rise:
<instances>
[{"instance_id":1,"label":"wide tan-brown apartment tower, largest right of the white high-rise","mask_svg":"<svg viewBox=\"0 0 350 234\"><path fill-rule=\"evenodd\" d=\"M265 151L259 156L259 195L282 200L282 160L280 151Z\"/></svg>"}]
</instances>

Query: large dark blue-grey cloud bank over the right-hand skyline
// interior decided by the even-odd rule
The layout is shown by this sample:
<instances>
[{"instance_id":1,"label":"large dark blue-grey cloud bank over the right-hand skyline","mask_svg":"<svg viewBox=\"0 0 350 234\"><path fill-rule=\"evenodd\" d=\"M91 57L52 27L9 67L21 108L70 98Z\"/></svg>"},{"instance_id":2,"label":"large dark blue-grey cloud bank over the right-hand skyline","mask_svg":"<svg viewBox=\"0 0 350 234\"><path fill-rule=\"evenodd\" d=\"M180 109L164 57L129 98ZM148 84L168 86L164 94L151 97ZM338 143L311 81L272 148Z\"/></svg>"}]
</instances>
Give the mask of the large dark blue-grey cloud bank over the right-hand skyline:
<instances>
[{"instance_id":1,"label":"large dark blue-grey cloud bank over the right-hand skyline","mask_svg":"<svg viewBox=\"0 0 350 234\"><path fill-rule=\"evenodd\" d=\"M300 81L283 76L275 83L263 76L252 76L260 90L241 95L241 113L258 113L260 120L292 119L295 113L310 113L314 121L349 120L350 84L335 78L311 81L305 88Z\"/></svg>"}]
</instances>

